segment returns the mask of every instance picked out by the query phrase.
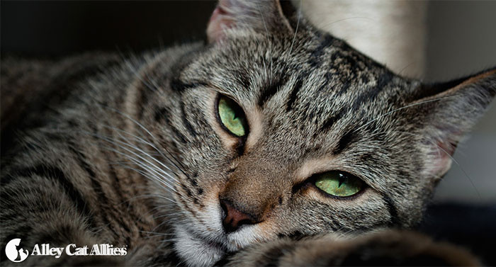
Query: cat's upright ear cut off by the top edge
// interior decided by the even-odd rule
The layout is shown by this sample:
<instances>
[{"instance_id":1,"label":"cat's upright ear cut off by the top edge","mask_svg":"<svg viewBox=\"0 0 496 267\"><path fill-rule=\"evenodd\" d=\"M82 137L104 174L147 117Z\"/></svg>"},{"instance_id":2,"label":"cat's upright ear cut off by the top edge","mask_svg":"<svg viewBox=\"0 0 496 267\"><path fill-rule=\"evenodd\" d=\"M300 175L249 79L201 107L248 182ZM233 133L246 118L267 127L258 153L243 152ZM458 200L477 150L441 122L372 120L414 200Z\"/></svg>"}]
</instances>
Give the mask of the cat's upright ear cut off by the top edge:
<instances>
[{"instance_id":1,"label":"cat's upright ear cut off by the top edge","mask_svg":"<svg viewBox=\"0 0 496 267\"><path fill-rule=\"evenodd\" d=\"M288 19L293 13L291 1L219 0L208 22L208 42L224 40L230 30L252 29L266 34L293 32Z\"/></svg>"}]
</instances>

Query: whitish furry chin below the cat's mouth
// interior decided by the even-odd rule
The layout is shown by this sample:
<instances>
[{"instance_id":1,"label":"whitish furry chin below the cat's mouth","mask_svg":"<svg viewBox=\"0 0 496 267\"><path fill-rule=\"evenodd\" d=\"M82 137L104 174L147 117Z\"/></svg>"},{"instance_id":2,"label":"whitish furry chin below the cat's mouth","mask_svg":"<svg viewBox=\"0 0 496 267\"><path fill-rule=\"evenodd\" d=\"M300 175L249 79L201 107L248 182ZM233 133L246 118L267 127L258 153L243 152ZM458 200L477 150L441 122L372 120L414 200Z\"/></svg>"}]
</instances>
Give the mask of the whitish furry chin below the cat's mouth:
<instances>
[{"instance_id":1,"label":"whitish furry chin below the cat's mouth","mask_svg":"<svg viewBox=\"0 0 496 267\"><path fill-rule=\"evenodd\" d=\"M220 244L208 242L181 227L176 228L176 239L174 248L187 266L213 266L225 255Z\"/></svg>"}]
</instances>

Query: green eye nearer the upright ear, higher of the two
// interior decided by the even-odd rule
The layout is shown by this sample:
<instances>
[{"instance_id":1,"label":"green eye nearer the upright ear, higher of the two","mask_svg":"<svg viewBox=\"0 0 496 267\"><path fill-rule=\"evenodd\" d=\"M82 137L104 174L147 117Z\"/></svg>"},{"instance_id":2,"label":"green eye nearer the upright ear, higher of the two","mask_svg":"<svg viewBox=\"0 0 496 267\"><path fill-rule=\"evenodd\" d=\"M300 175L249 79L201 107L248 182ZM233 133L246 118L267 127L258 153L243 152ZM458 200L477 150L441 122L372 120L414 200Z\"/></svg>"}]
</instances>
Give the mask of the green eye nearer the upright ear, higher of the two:
<instances>
[{"instance_id":1,"label":"green eye nearer the upright ear, higher of the two","mask_svg":"<svg viewBox=\"0 0 496 267\"><path fill-rule=\"evenodd\" d=\"M218 103L220 123L237 137L244 137L248 132L247 118L242 108L230 98L220 96Z\"/></svg>"}]
</instances>

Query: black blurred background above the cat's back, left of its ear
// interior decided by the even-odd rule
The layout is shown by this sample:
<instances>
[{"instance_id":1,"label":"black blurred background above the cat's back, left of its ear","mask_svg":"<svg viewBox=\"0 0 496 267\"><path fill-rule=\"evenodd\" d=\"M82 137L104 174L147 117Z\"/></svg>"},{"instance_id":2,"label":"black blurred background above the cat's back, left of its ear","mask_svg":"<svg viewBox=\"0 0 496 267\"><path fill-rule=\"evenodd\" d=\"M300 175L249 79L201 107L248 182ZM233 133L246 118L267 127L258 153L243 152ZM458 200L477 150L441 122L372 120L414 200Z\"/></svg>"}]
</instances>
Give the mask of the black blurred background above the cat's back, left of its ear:
<instances>
[{"instance_id":1,"label":"black blurred background above the cat's back, left of its ear","mask_svg":"<svg viewBox=\"0 0 496 267\"><path fill-rule=\"evenodd\" d=\"M1 53L140 51L205 38L215 1L1 1Z\"/></svg>"}]
</instances>

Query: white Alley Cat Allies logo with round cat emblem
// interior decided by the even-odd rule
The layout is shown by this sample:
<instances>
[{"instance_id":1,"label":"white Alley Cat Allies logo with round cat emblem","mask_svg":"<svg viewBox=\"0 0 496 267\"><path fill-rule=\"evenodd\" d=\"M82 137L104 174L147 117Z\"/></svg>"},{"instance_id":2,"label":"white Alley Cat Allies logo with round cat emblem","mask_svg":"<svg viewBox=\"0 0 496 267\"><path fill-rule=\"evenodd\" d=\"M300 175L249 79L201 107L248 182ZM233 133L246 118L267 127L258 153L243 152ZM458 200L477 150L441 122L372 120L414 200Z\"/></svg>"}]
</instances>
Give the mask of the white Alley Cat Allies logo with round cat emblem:
<instances>
[{"instance_id":1,"label":"white Alley Cat Allies logo with round cat emblem","mask_svg":"<svg viewBox=\"0 0 496 267\"><path fill-rule=\"evenodd\" d=\"M55 256L59 259L62 254L67 256L125 256L128 254L126 247L114 247L111 244L94 244L93 246L76 246L68 244L62 247L52 247L50 244L35 244L31 254L21 247L21 239L15 238L5 246L5 254L13 262L24 261L28 256Z\"/></svg>"}]
</instances>

